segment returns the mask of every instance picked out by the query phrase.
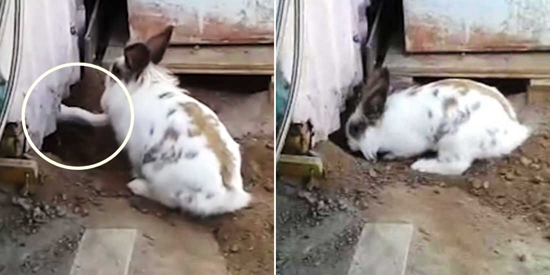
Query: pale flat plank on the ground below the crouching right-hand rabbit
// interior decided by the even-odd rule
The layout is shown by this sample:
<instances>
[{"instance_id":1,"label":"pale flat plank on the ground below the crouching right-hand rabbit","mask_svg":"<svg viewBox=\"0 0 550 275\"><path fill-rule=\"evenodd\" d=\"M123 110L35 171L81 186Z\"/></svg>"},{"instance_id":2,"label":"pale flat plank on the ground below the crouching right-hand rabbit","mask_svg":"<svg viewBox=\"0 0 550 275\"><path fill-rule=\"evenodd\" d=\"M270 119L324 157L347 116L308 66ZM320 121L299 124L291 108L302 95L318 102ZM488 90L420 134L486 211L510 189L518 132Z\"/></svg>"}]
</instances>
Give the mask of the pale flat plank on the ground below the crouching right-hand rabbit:
<instances>
[{"instance_id":1,"label":"pale flat plank on the ground below the crouching right-hand rabbit","mask_svg":"<svg viewBox=\"0 0 550 275\"><path fill-rule=\"evenodd\" d=\"M348 275L404 275L412 224L367 223Z\"/></svg>"}]
</instances>

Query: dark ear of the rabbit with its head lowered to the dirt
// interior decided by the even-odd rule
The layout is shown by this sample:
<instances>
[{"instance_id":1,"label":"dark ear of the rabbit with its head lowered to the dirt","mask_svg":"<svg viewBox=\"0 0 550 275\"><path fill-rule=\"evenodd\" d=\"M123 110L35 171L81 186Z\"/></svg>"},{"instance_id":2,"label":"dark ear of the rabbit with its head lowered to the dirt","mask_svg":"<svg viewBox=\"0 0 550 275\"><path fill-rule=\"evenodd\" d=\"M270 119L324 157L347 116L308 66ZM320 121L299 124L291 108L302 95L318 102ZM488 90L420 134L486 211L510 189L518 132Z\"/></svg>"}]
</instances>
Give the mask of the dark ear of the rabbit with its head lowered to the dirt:
<instances>
[{"instance_id":1,"label":"dark ear of the rabbit with its head lowered to the dirt","mask_svg":"<svg viewBox=\"0 0 550 275\"><path fill-rule=\"evenodd\" d=\"M389 90L389 72L386 68L376 69L363 88L364 112L382 113Z\"/></svg>"}]
</instances>

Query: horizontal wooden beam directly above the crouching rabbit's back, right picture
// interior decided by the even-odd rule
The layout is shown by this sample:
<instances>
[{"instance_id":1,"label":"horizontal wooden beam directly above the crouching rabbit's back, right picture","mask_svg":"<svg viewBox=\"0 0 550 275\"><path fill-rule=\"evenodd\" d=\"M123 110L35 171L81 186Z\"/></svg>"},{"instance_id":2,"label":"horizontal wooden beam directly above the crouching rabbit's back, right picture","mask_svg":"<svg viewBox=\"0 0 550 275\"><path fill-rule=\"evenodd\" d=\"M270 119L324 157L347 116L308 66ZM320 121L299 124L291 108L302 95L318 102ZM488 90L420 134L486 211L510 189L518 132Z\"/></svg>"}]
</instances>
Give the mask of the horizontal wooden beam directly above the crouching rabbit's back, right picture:
<instances>
[{"instance_id":1,"label":"horizontal wooden beam directly above the crouching rabbit's back, right picture","mask_svg":"<svg viewBox=\"0 0 550 275\"><path fill-rule=\"evenodd\" d=\"M550 78L550 52L407 54L399 35L392 38L384 64L404 76Z\"/></svg>"}]
</instances>

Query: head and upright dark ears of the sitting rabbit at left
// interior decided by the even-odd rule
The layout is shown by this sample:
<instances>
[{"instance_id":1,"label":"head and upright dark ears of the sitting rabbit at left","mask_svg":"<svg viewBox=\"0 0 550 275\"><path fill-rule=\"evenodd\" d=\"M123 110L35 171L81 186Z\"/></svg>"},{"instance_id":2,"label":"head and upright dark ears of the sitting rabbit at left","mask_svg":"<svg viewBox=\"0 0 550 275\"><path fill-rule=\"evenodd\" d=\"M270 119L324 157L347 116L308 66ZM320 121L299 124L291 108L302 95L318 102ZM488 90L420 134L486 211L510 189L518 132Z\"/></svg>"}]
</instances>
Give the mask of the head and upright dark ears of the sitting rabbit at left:
<instances>
[{"instance_id":1,"label":"head and upright dark ears of the sitting rabbit at left","mask_svg":"<svg viewBox=\"0 0 550 275\"><path fill-rule=\"evenodd\" d=\"M168 47L174 26L167 26L155 36L152 36L144 43L131 43L124 48L123 56L114 60L109 69L117 78L119 78L125 86L127 86L130 94L134 91L131 89L135 83L141 85L140 76L144 70L152 63L158 64L161 62L164 52ZM114 80L107 76L106 87L115 84ZM101 98L101 106L105 110L106 96Z\"/></svg>"}]
</instances>

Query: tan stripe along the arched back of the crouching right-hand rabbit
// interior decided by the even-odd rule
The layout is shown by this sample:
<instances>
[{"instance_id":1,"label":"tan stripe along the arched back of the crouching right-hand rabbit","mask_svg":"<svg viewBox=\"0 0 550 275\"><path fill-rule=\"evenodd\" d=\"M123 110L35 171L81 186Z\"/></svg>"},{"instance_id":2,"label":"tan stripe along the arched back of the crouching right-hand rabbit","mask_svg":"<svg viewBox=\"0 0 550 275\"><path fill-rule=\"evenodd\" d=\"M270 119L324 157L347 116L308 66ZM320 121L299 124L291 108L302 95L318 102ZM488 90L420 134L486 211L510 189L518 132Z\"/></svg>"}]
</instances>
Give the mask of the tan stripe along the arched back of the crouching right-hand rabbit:
<instances>
[{"instance_id":1,"label":"tan stripe along the arched back of the crouching right-hand rabbit","mask_svg":"<svg viewBox=\"0 0 550 275\"><path fill-rule=\"evenodd\" d=\"M511 109L510 104L507 102L507 100L504 98L504 96L499 96L497 94L497 91L494 91L492 89L489 89L485 84L478 83L474 80L469 79L444 79L439 80L433 83L433 87L440 87L445 86L449 87L452 86L454 89L458 90L461 95L466 95L468 92L475 90L479 92L481 95L492 97L494 100L498 101L504 111L508 114L508 117L511 120L516 121L517 119L514 118L514 111Z\"/></svg>"}]
</instances>

